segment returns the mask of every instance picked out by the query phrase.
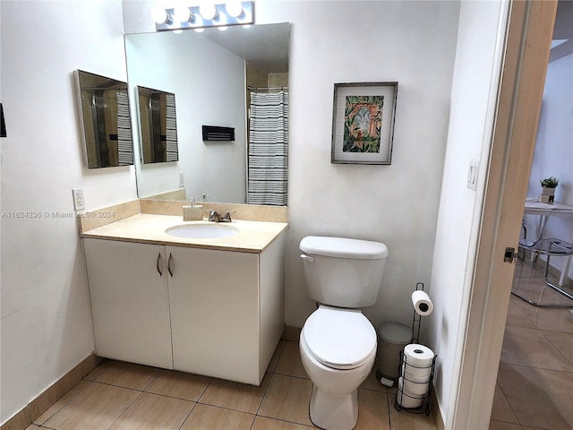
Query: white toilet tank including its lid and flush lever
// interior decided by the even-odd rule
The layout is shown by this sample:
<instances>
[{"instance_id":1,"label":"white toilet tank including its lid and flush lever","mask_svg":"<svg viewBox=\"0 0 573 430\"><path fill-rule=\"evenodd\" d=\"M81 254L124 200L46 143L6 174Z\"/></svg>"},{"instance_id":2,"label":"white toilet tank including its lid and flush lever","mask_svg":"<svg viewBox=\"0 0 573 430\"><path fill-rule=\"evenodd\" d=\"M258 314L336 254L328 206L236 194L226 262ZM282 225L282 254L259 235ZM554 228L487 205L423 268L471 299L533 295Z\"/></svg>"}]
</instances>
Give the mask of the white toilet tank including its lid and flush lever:
<instances>
[{"instance_id":1,"label":"white toilet tank including its lid and flush lever","mask_svg":"<svg viewBox=\"0 0 573 430\"><path fill-rule=\"evenodd\" d=\"M299 245L309 296L325 305L364 307L376 303L388 248L346 237L306 236Z\"/></svg>"}]
</instances>

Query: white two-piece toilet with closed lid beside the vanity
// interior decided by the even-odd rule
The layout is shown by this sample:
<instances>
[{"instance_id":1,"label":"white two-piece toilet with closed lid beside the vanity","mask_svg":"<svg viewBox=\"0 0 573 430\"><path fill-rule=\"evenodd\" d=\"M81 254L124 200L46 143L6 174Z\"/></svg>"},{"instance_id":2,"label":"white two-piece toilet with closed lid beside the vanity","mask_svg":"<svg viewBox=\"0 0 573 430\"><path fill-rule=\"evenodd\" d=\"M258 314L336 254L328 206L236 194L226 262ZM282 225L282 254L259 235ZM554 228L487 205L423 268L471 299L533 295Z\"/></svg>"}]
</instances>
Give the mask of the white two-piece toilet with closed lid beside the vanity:
<instances>
[{"instance_id":1,"label":"white two-piece toilet with closed lid beside the vanity","mask_svg":"<svg viewBox=\"0 0 573 430\"><path fill-rule=\"evenodd\" d=\"M362 314L378 297L388 248L379 242L307 236L300 243L309 296L319 308L300 337L312 380L312 423L350 430L358 421L358 387L376 357L376 331Z\"/></svg>"}]
</instances>

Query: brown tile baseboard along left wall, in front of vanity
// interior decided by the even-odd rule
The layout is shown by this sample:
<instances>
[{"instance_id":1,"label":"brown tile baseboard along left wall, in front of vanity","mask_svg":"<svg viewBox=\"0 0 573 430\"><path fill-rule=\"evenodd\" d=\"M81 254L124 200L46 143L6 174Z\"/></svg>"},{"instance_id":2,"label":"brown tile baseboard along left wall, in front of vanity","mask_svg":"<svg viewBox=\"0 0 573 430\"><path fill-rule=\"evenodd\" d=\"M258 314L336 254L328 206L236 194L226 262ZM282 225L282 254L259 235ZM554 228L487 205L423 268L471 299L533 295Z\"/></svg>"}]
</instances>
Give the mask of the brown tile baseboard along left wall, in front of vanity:
<instances>
[{"instance_id":1,"label":"brown tile baseboard along left wall, in front of vanity","mask_svg":"<svg viewBox=\"0 0 573 430\"><path fill-rule=\"evenodd\" d=\"M20 412L6 421L0 430L24 430L39 416L47 411L57 400L67 391L81 381L86 374L89 374L101 362L101 358L94 353L86 357L78 366L64 374L60 379L41 392L36 399L30 401Z\"/></svg>"}]
</instances>

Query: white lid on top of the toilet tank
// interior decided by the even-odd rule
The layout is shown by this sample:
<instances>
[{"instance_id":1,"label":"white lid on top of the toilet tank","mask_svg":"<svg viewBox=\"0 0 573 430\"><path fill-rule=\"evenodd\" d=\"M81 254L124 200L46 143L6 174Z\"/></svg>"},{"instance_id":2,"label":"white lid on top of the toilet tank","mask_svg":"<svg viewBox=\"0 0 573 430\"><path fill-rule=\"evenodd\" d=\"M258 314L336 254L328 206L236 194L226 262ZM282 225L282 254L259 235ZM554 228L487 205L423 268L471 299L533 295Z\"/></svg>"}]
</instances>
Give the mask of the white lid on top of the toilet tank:
<instances>
[{"instance_id":1,"label":"white lid on top of the toilet tank","mask_svg":"<svg viewBox=\"0 0 573 430\"><path fill-rule=\"evenodd\" d=\"M299 247L306 254L325 257L381 260L388 256L388 247L381 242L346 237L306 236Z\"/></svg>"}]
</instances>

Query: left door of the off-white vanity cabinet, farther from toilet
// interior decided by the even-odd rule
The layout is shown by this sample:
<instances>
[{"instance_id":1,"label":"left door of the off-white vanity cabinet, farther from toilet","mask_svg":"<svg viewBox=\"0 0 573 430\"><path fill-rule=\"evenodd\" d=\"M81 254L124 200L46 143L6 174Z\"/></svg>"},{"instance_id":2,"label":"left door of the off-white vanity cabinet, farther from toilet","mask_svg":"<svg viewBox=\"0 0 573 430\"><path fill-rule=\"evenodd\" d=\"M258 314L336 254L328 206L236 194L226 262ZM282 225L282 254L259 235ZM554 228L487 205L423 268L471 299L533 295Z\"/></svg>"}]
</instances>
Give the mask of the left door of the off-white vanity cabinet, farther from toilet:
<instances>
[{"instance_id":1,"label":"left door of the off-white vanity cabinet, farther from toilet","mask_svg":"<svg viewBox=\"0 0 573 430\"><path fill-rule=\"evenodd\" d=\"M83 243L96 354L172 369L165 246Z\"/></svg>"}]
</instances>

